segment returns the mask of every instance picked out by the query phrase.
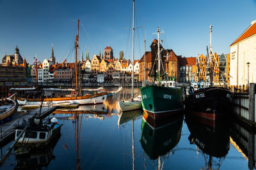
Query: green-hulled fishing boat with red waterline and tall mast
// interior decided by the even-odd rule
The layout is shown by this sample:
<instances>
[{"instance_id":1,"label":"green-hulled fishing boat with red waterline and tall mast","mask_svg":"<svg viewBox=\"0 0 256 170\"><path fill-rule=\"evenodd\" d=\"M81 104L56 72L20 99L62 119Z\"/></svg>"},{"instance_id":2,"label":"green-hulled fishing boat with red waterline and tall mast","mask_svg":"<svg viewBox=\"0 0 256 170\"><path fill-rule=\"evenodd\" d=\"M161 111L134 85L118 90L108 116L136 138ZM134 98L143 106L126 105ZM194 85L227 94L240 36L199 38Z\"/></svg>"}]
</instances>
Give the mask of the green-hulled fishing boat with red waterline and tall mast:
<instances>
[{"instance_id":1,"label":"green-hulled fishing boat with red waterline and tall mast","mask_svg":"<svg viewBox=\"0 0 256 170\"><path fill-rule=\"evenodd\" d=\"M154 120L163 119L166 117L173 117L174 115L179 115L183 111L183 96L182 89L176 87L164 87L161 86L161 73L162 77L166 75L164 70L161 71L161 57L160 57L160 43L159 43L159 27L157 28L157 58L158 69L156 74L157 85L152 85L148 87L141 88L141 104L142 108L150 117ZM162 48L162 47L161 47ZM152 66L151 73L153 72L154 66ZM168 69L166 69L168 70ZM163 81L163 80L162 80Z\"/></svg>"}]
</instances>

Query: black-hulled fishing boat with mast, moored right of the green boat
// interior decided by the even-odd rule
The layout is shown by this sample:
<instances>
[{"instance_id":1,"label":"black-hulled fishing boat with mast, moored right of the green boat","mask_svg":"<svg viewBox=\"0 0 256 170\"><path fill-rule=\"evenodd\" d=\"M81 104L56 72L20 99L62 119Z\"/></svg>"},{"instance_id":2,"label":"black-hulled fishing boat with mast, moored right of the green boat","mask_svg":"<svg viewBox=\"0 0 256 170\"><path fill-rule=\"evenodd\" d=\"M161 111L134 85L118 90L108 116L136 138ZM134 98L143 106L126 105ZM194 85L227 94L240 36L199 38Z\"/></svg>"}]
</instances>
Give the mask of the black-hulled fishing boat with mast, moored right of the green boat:
<instances>
[{"instance_id":1,"label":"black-hulled fishing boat with mast, moored right of the green boat","mask_svg":"<svg viewBox=\"0 0 256 170\"><path fill-rule=\"evenodd\" d=\"M210 26L210 39L212 35L212 26ZM208 48L207 48L208 53ZM186 97L185 105L189 115L193 115L207 120L215 121L227 118L230 109L230 90L223 87L212 87L214 70L218 71L218 62L212 55L212 45L210 41L210 52L208 53L209 77L211 87L199 89L194 92L193 89ZM207 72L206 72L207 73ZM206 80L206 76L205 76Z\"/></svg>"}]
</instances>

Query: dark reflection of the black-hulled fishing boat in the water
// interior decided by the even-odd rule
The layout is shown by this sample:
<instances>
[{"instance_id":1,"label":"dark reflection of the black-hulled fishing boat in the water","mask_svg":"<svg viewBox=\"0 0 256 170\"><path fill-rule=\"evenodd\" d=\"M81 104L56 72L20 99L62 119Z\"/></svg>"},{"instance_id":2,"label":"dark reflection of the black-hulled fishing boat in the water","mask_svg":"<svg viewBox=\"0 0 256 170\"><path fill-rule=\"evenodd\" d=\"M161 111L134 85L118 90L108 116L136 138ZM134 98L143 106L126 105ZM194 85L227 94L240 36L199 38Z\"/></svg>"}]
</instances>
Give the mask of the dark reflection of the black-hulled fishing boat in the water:
<instances>
[{"instance_id":1,"label":"dark reflection of the black-hulled fishing boat in the water","mask_svg":"<svg viewBox=\"0 0 256 170\"><path fill-rule=\"evenodd\" d=\"M190 131L189 142L196 145L202 153L207 169L219 169L230 148L230 129L228 122L218 121L209 123L205 119L188 117L186 124ZM203 168L203 169L204 169Z\"/></svg>"}]
</instances>

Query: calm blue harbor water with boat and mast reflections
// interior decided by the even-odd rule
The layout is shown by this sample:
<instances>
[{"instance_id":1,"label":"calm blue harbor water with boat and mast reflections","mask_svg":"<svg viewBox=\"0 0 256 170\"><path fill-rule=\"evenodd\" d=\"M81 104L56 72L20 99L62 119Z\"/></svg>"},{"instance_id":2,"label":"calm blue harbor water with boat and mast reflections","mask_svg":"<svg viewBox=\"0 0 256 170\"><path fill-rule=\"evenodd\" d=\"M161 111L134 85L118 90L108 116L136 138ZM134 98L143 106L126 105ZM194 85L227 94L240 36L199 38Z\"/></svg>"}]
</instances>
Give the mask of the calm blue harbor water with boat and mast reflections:
<instances>
[{"instance_id":1,"label":"calm blue harbor water with boat and mast reflections","mask_svg":"<svg viewBox=\"0 0 256 170\"><path fill-rule=\"evenodd\" d=\"M212 127L181 117L153 129L140 110L120 113L116 101L130 95L124 90L104 104L56 111L63 124L56 143L27 157L12 152L1 169L249 169L238 124Z\"/></svg>"}]
</instances>

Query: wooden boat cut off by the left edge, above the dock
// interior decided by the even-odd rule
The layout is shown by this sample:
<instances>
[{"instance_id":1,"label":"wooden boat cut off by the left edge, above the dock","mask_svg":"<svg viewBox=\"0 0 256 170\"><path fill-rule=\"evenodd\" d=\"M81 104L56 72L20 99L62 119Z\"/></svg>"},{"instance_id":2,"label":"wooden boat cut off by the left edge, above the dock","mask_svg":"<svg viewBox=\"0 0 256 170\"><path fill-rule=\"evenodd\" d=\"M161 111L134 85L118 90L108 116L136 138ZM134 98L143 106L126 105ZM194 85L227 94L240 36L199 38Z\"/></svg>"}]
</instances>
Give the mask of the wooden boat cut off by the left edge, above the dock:
<instances>
[{"instance_id":1,"label":"wooden boat cut off by the left edge, above the dock","mask_svg":"<svg viewBox=\"0 0 256 170\"><path fill-rule=\"evenodd\" d=\"M1 99L0 101L0 121L10 117L15 111L16 103L12 99Z\"/></svg>"}]
</instances>

